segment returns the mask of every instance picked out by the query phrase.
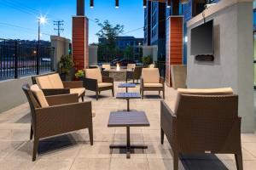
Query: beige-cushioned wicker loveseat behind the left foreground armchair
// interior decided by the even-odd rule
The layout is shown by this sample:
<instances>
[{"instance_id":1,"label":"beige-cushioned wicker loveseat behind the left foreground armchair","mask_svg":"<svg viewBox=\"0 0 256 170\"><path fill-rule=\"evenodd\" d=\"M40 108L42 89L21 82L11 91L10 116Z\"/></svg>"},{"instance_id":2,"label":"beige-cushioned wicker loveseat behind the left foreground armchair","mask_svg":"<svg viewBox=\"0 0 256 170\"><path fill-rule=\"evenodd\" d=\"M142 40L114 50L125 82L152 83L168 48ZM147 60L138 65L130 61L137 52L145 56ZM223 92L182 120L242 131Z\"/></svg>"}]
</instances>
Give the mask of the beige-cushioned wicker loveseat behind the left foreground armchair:
<instances>
[{"instance_id":1,"label":"beige-cushioned wicker loveseat behind the left foreground armchair","mask_svg":"<svg viewBox=\"0 0 256 170\"><path fill-rule=\"evenodd\" d=\"M82 81L62 82L58 73L32 77L32 83L38 84L45 96L57 94L78 94L84 101L85 88Z\"/></svg>"}]
</instances>

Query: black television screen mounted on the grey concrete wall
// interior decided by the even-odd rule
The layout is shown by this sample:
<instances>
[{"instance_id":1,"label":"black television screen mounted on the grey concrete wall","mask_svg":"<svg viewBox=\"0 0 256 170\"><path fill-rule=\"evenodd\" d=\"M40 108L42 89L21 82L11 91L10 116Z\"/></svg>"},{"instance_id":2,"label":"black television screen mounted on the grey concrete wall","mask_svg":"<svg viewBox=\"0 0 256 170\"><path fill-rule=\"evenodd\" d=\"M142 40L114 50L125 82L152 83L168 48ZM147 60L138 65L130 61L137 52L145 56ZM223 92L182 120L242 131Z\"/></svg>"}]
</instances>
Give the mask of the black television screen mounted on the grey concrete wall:
<instances>
[{"instance_id":1,"label":"black television screen mounted on the grey concrete wall","mask_svg":"<svg viewBox=\"0 0 256 170\"><path fill-rule=\"evenodd\" d=\"M191 55L214 54L213 20L191 30Z\"/></svg>"}]
</instances>

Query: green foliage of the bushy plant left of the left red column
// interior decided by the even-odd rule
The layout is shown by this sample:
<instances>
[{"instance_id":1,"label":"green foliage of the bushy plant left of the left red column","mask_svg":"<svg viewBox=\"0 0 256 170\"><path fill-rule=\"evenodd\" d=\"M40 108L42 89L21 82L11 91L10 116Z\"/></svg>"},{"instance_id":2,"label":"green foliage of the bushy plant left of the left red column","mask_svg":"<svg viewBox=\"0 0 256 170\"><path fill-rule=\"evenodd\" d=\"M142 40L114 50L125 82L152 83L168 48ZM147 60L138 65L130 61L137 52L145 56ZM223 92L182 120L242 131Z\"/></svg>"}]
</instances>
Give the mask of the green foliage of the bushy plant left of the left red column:
<instances>
[{"instance_id":1,"label":"green foliage of the bushy plant left of the left red column","mask_svg":"<svg viewBox=\"0 0 256 170\"><path fill-rule=\"evenodd\" d=\"M69 74L73 68L73 59L71 55L62 55L59 62L59 71L61 74Z\"/></svg>"}]
</instances>

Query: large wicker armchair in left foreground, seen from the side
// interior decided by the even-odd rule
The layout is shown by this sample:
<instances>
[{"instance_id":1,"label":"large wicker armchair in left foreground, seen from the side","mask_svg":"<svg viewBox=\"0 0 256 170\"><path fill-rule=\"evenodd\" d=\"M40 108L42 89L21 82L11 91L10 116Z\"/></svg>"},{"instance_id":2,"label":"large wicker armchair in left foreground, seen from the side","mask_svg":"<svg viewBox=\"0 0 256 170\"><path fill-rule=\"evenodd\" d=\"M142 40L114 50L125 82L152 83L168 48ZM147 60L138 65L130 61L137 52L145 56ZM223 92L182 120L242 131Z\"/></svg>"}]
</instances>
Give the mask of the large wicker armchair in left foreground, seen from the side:
<instances>
[{"instance_id":1,"label":"large wicker armchair in left foreground, seen from the side","mask_svg":"<svg viewBox=\"0 0 256 170\"><path fill-rule=\"evenodd\" d=\"M92 117L95 113L91 110L91 102L79 103L77 94L45 97L38 85L29 87L26 84L22 89L29 102L32 116L32 161L36 160L39 139L88 128L90 144L93 144Z\"/></svg>"}]
</instances>

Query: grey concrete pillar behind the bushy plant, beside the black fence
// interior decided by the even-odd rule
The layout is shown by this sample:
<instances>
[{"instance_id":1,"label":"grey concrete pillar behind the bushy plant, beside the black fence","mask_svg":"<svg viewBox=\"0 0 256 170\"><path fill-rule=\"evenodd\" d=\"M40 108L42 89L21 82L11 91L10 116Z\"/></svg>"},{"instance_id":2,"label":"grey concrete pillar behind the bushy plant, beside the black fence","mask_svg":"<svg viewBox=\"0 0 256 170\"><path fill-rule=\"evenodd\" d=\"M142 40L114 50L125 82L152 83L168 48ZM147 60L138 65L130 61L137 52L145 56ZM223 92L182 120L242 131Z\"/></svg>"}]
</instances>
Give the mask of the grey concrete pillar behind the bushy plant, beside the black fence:
<instances>
[{"instance_id":1,"label":"grey concrete pillar behind the bushy plant, beside the black fence","mask_svg":"<svg viewBox=\"0 0 256 170\"><path fill-rule=\"evenodd\" d=\"M54 69L57 71L61 56L68 54L70 40L65 37L51 36L50 42L51 46L55 48Z\"/></svg>"}]
</instances>

